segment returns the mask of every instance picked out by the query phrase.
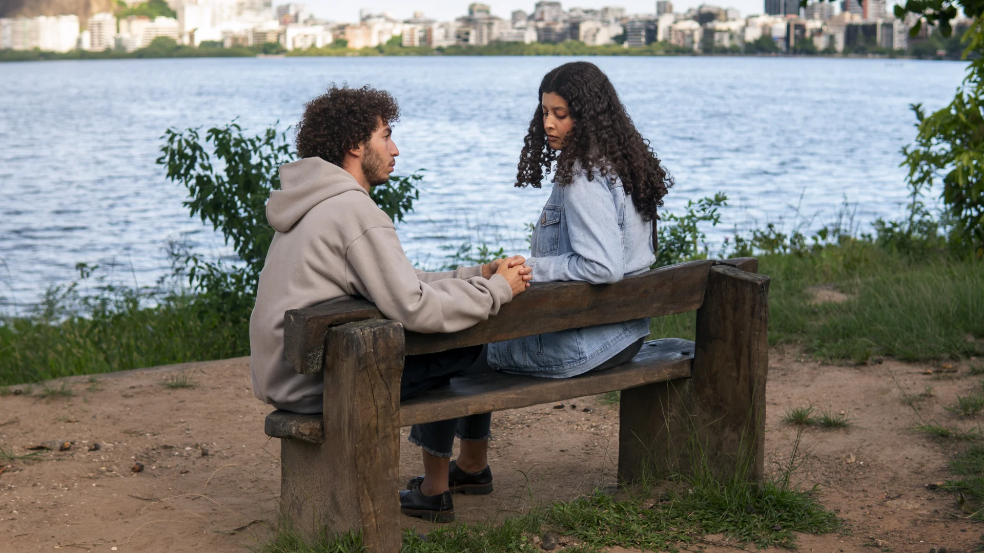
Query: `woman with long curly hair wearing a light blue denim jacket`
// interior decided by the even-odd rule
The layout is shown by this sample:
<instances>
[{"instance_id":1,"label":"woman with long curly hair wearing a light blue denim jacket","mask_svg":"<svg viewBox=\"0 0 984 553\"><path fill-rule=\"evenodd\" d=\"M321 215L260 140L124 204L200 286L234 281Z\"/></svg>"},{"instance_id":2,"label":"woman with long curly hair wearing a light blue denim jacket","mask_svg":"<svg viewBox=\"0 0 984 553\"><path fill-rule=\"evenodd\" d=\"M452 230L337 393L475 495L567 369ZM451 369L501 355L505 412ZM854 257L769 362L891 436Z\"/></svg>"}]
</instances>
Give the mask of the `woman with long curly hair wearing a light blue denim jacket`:
<instances>
[{"instance_id":1,"label":"woman with long curly hair wearing a light blue denim jacket","mask_svg":"<svg viewBox=\"0 0 984 553\"><path fill-rule=\"evenodd\" d=\"M594 64L564 64L540 83L516 186L553 191L533 229L534 281L617 282L655 261L652 225L672 178L636 130L608 77ZM488 362L508 373L568 378L632 359L649 320L598 325L489 344Z\"/></svg>"}]
</instances>

